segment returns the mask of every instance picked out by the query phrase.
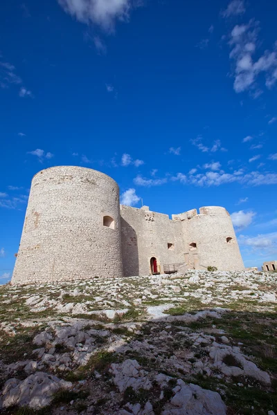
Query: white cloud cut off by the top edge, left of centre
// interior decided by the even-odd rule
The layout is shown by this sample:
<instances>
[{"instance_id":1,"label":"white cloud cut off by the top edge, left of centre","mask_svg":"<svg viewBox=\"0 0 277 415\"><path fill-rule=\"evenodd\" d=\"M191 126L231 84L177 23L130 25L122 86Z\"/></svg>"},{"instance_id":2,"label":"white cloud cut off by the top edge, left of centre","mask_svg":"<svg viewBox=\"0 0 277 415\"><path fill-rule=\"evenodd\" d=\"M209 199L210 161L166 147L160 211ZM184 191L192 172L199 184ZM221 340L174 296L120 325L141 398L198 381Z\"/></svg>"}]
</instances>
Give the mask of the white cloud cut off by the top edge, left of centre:
<instances>
[{"instance_id":1,"label":"white cloud cut off by the top edge, left of centre","mask_svg":"<svg viewBox=\"0 0 277 415\"><path fill-rule=\"evenodd\" d=\"M127 21L131 0L57 0L60 6L84 24L97 24L113 30L115 21Z\"/></svg>"}]
</instances>

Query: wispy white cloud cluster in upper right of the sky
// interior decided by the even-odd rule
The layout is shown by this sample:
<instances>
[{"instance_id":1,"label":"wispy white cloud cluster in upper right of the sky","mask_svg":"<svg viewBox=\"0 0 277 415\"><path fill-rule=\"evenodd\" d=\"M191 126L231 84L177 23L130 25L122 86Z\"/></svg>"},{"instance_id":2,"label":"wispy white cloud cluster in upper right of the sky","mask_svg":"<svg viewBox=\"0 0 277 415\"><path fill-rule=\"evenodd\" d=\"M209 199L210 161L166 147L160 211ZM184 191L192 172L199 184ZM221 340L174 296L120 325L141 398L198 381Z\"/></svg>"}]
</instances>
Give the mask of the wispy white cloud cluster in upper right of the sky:
<instances>
[{"instance_id":1,"label":"wispy white cloud cluster in upper right of the sky","mask_svg":"<svg viewBox=\"0 0 277 415\"><path fill-rule=\"evenodd\" d=\"M265 75L267 89L271 89L277 81L277 44L274 46L274 51L265 50L260 58L256 61L253 59L256 46L259 44L258 31L259 24L252 19L249 24L236 25L229 40L232 48L230 58L235 62L233 71L235 92L251 91L253 98L257 98L262 93L257 84L261 73Z\"/></svg>"}]
</instances>

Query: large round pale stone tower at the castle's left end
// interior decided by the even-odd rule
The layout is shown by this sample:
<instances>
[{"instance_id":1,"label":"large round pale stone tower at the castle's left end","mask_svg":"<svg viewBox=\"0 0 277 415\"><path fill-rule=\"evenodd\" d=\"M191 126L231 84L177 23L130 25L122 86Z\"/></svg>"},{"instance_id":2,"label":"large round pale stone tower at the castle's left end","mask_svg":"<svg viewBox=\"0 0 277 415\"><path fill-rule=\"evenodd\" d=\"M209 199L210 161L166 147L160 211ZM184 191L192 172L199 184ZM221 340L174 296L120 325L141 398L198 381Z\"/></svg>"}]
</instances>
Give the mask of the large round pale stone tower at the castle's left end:
<instances>
[{"instance_id":1,"label":"large round pale stone tower at the castle's left end","mask_svg":"<svg viewBox=\"0 0 277 415\"><path fill-rule=\"evenodd\" d=\"M35 174L12 284L122 276L117 183L75 166Z\"/></svg>"}]
</instances>

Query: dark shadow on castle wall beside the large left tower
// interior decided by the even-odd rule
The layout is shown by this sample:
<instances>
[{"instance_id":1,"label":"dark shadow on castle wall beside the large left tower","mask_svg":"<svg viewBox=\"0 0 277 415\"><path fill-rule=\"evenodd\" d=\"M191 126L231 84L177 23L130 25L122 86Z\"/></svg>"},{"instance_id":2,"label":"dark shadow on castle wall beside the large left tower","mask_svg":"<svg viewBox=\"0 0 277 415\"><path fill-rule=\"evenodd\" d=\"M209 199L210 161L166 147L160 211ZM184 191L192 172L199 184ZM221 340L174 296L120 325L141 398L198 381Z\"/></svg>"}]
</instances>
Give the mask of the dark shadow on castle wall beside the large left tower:
<instances>
[{"instance_id":1,"label":"dark shadow on castle wall beside the large left tower","mask_svg":"<svg viewBox=\"0 0 277 415\"><path fill-rule=\"evenodd\" d=\"M134 228L123 218L121 218L121 247L123 275L125 277L139 275L138 238Z\"/></svg>"}]
</instances>

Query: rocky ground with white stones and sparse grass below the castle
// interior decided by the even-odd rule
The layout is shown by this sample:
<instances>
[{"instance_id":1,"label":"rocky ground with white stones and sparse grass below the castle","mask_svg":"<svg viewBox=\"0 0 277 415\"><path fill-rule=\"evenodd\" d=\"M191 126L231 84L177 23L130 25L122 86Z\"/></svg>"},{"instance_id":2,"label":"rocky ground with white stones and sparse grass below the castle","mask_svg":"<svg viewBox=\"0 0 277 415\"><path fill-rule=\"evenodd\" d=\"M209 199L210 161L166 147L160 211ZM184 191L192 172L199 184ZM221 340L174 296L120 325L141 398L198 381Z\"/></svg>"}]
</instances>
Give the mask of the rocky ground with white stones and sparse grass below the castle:
<instances>
[{"instance_id":1,"label":"rocky ground with white stones and sparse grass below the castle","mask_svg":"<svg viewBox=\"0 0 277 415\"><path fill-rule=\"evenodd\" d=\"M277 414L277 273L0 287L3 414Z\"/></svg>"}]
</instances>

